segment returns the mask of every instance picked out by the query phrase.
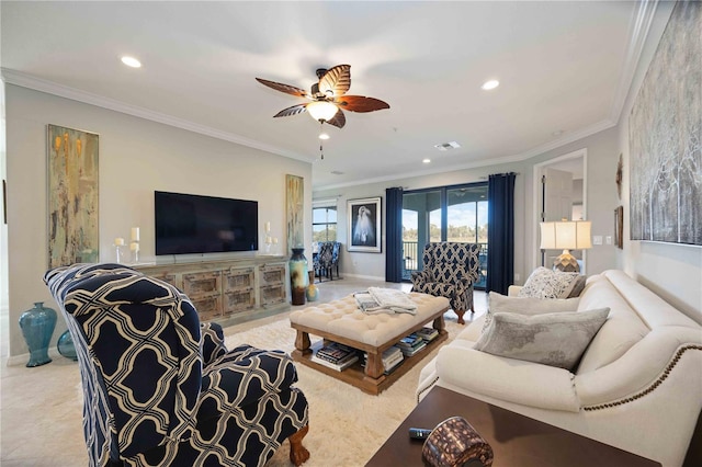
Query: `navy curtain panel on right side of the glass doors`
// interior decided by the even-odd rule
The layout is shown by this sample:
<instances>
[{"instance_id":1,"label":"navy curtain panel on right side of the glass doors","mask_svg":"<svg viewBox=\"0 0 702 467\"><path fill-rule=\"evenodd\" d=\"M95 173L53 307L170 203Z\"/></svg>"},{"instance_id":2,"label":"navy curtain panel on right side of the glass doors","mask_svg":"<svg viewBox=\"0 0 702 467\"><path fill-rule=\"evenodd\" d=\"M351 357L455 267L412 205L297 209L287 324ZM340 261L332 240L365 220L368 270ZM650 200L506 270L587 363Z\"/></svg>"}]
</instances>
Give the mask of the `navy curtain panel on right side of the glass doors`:
<instances>
[{"instance_id":1,"label":"navy curtain panel on right side of the glass doors","mask_svg":"<svg viewBox=\"0 0 702 467\"><path fill-rule=\"evenodd\" d=\"M486 292L507 295L514 277L514 178L516 173L490 175L487 187L488 254Z\"/></svg>"}]
</instances>

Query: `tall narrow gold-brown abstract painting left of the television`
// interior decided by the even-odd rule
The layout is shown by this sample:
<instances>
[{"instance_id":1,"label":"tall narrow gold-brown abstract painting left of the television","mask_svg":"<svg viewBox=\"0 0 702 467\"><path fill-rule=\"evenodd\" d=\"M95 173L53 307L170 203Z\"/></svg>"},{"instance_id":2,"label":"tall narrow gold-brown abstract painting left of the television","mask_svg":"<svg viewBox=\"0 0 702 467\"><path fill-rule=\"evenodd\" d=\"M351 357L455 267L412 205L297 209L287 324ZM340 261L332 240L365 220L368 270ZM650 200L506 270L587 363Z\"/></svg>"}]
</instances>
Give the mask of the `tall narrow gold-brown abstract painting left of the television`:
<instances>
[{"instance_id":1,"label":"tall narrow gold-brown abstract painting left of the television","mask_svg":"<svg viewBox=\"0 0 702 467\"><path fill-rule=\"evenodd\" d=\"M99 135L48 125L48 266L100 259Z\"/></svg>"}]
</instances>

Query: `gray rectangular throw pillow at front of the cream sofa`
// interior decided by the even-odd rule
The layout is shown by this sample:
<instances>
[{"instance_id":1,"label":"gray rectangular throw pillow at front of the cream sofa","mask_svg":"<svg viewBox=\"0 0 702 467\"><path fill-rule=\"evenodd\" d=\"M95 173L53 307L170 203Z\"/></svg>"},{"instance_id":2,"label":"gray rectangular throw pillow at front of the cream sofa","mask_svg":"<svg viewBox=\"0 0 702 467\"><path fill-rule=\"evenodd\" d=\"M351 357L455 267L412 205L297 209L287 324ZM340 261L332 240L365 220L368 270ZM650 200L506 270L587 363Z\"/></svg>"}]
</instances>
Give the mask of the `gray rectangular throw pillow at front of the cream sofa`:
<instances>
[{"instance_id":1,"label":"gray rectangular throw pillow at front of the cream sofa","mask_svg":"<svg viewBox=\"0 0 702 467\"><path fill-rule=\"evenodd\" d=\"M535 316L498 312L474 349L573 369L609 312L609 308Z\"/></svg>"}]
</instances>

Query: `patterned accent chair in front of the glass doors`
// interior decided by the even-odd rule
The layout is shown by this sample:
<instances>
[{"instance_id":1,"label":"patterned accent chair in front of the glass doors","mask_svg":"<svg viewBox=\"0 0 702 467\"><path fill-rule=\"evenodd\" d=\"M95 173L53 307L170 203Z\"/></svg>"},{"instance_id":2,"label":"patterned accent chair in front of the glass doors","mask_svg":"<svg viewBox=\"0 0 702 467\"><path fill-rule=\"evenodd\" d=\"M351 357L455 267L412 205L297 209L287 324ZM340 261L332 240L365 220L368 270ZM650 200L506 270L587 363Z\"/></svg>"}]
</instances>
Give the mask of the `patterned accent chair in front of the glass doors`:
<instances>
[{"instance_id":1,"label":"patterned accent chair in front of the glass doors","mask_svg":"<svg viewBox=\"0 0 702 467\"><path fill-rule=\"evenodd\" d=\"M422 270L411 275L412 292L449 298L458 323L465 324L465 311L475 311L473 284L478 280L479 250L475 243L427 243Z\"/></svg>"}]
</instances>

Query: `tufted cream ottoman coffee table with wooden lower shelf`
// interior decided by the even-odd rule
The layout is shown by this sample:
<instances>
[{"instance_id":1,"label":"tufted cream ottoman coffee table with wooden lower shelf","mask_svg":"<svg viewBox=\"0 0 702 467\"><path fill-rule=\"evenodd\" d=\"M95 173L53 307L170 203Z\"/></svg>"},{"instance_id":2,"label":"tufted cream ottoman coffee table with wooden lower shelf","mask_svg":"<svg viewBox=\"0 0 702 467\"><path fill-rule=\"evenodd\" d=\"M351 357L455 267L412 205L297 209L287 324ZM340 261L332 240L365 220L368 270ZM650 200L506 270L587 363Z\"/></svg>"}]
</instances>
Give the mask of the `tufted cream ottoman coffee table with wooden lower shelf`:
<instances>
[{"instance_id":1,"label":"tufted cream ottoman coffee table with wooden lower shelf","mask_svg":"<svg viewBox=\"0 0 702 467\"><path fill-rule=\"evenodd\" d=\"M411 369L424 355L428 355L431 349L445 341L448 337L443 314L449 310L449 300L444 297L415 292L410 293L409 297L417 304L416 315L365 315L358 308L353 295L293 311L290 315L290 321L297 331L293 358L303 365L349 383L364 392L380 394ZM439 335L427 344L427 349L412 356L406 356L403 364L394 372L384 375L383 352L430 321L433 321L433 327L439 331ZM324 342L319 341L312 345L309 334L324 338ZM359 363L343 372L337 372L312 361L314 352L329 341L366 352L365 369Z\"/></svg>"}]
</instances>

